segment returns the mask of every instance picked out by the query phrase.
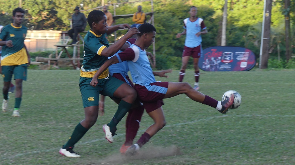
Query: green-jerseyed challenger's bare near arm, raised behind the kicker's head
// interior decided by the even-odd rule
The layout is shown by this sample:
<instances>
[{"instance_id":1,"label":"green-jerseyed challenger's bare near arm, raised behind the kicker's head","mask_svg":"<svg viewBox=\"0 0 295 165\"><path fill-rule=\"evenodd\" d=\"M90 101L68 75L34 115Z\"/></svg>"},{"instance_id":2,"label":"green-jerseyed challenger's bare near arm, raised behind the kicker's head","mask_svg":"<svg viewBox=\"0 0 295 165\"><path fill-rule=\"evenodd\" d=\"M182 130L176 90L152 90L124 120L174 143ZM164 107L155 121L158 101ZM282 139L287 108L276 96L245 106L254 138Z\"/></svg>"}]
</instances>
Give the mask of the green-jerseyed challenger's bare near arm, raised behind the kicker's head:
<instances>
[{"instance_id":1,"label":"green-jerseyed challenger's bare near arm, raised behind the kicker's head","mask_svg":"<svg viewBox=\"0 0 295 165\"><path fill-rule=\"evenodd\" d=\"M104 48L104 50L101 51L101 55L105 57L111 57L115 53L117 53L120 48L126 43L126 41L132 37L134 34L140 33L137 28L130 28L129 31L121 37L117 42L109 46L108 48Z\"/></svg>"}]
</instances>

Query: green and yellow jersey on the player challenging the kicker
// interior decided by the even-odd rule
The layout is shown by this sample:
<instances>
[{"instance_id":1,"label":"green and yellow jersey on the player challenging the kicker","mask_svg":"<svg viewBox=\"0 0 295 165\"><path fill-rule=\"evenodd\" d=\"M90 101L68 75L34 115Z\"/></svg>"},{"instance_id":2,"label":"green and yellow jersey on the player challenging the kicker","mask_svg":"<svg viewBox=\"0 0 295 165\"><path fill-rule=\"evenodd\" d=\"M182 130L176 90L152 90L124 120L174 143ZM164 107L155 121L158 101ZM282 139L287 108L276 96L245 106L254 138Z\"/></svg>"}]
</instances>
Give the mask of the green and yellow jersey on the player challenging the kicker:
<instances>
[{"instance_id":1,"label":"green and yellow jersey on the player challenging the kicker","mask_svg":"<svg viewBox=\"0 0 295 165\"><path fill-rule=\"evenodd\" d=\"M83 63L80 70L80 76L85 78L93 78L97 70L108 59L101 56L102 50L109 47L109 41L106 34L100 36L89 30L84 37L84 56ZM109 69L106 69L99 79L107 78L109 76Z\"/></svg>"}]
</instances>

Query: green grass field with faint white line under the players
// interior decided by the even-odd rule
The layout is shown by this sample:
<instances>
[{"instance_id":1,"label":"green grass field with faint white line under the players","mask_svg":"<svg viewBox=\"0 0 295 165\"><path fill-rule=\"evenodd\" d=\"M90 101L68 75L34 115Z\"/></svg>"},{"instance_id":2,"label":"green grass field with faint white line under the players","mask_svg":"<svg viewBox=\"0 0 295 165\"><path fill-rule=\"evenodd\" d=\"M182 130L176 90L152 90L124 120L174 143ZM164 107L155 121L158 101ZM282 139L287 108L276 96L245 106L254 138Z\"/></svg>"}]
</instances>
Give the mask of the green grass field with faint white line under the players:
<instances>
[{"instance_id":1,"label":"green grass field with faint white line under the players","mask_svg":"<svg viewBox=\"0 0 295 165\"><path fill-rule=\"evenodd\" d=\"M159 81L178 81L178 70ZM184 81L194 83L193 70ZM0 164L295 164L295 70L248 72L201 71L200 92L221 100L227 90L242 95L238 109L226 115L191 101L186 95L165 99L167 125L140 150L138 156L119 154L124 142L125 119L117 126L115 142L104 139L102 125L117 109L106 100L105 115L76 144L81 158L61 156L78 122L84 118L77 70L28 70L23 83L20 118L0 112ZM3 86L1 80L0 86ZM1 95L1 99L3 96ZM139 133L152 124L144 113Z\"/></svg>"}]
</instances>

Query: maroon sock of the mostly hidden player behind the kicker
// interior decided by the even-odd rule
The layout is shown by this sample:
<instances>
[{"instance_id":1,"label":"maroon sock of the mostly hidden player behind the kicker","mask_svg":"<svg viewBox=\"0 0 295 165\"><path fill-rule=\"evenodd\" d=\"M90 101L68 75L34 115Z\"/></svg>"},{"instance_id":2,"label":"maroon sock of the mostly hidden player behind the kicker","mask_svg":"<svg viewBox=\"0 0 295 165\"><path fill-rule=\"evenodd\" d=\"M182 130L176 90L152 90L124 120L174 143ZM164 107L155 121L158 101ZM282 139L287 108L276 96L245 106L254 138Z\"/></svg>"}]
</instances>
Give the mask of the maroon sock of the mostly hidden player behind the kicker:
<instances>
[{"instance_id":1,"label":"maroon sock of the mostly hidden player behind the kicker","mask_svg":"<svg viewBox=\"0 0 295 165\"><path fill-rule=\"evenodd\" d=\"M131 146L139 129L140 120L144 112L143 105L129 111L126 119L125 146Z\"/></svg>"}]
</instances>

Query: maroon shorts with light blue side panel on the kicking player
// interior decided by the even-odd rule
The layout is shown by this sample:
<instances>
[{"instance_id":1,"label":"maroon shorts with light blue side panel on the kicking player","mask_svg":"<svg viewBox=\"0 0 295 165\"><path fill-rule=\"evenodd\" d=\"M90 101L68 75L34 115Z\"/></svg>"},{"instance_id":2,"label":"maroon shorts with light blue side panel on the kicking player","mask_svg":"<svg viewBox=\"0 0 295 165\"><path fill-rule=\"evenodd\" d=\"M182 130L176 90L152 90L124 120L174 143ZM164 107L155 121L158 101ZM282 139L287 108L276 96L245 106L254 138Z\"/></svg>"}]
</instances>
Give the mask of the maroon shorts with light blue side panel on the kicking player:
<instances>
[{"instance_id":1,"label":"maroon shorts with light blue side panel on the kicking player","mask_svg":"<svg viewBox=\"0 0 295 165\"><path fill-rule=\"evenodd\" d=\"M155 82L148 86L135 84L134 88L146 112L150 113L164 105L163 98L168 90L168 82Z\"/></svg>"}]
</instances>

